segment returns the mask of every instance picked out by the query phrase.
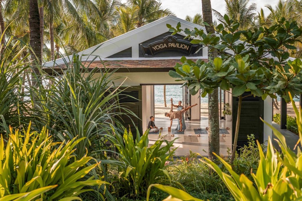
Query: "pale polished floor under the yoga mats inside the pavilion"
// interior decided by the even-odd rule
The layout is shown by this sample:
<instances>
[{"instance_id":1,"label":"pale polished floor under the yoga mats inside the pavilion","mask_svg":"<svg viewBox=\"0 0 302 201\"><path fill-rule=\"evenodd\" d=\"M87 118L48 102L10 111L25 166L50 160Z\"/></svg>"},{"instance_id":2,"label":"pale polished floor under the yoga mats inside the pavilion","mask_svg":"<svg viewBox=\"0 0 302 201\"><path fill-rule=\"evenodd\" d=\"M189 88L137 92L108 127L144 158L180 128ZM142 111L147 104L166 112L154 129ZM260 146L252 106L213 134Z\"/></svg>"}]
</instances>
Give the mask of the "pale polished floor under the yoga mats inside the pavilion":
<instances>
[{"instance_id":1,"label":"pale polished floor under the yoga mats inside the pavilion","mask_svg":"<svg viewBox=\"0 0 302 201\"><path fill-rule=\"evenodd\" d=\"M169 118L156 118L155 124L157 127L163 127L161 131L161 137L166 136L165 139L170 141L174 138L178 138L174 142L174 146L178 147L175 152L176 156L183 156L190 152L199 153L202 156L207 156L208 151L208 134L201 134L200 137L197 137L197 134L194 133L194 128L205 129L208 127L208 118L201 117L201 121L186 121L186 130L185 134L175 134L175 128L177 126L177 120L173 121L171 132L168 132L168 127L170 126ZM231 121L220 121L220 128L229 127L228 132L225 137L220 134L220 154L226 155L227 149L231 148L232 144L232 122ZM171 137L171 134L174 134L174 137ZM159 134L149 134L149 146L151 146L155 140L159 138Z\"/></svg>"}]
</instances>

